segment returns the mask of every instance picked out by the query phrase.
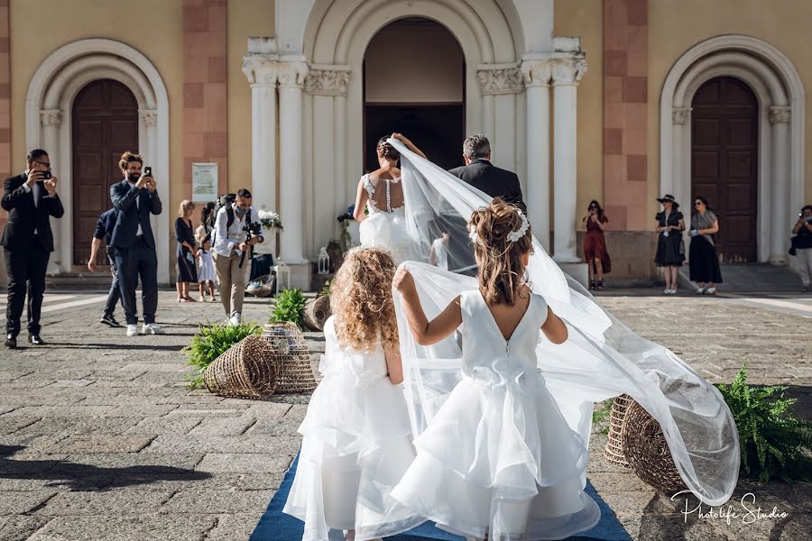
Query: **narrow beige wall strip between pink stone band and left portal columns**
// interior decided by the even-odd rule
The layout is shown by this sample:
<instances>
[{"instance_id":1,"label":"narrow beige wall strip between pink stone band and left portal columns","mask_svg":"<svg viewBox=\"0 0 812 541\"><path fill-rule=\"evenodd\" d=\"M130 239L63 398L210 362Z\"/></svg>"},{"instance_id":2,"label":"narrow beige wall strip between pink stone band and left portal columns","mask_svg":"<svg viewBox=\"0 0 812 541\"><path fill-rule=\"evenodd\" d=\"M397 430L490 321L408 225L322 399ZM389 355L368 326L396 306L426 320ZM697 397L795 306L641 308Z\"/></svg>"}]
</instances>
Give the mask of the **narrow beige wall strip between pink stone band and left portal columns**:
<instances>
[{"instance_id":1,"label":"narrow beige wall strip between pink stone band and left portal columns","mask_svg":"<svg viewBox=\"0 0 812 541\"><path fill-rule=\"evenodd\" d=\"M274 35L272 0L228 3L228 191L251 188L251 87L243 74L248 38Z\"/></svg>"}]
</instances>

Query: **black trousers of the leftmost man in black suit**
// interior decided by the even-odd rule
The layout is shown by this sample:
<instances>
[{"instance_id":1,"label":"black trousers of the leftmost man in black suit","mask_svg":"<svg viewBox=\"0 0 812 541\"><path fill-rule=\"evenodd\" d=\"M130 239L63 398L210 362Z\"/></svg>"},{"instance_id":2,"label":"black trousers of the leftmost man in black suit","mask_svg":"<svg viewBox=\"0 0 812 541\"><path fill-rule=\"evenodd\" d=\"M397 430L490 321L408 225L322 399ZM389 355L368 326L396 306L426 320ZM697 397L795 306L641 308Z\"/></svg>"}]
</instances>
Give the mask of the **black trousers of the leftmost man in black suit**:
<instances>
[{"instance_id":1,"label":"black trousers of the leftmost man in black suit","mask_svg":"<svg viewBox=\"0 0 812 541\"><path fill-rule=\"evenodd\" d=\"M45 292L45 269L51 253L36 240L28 250L5 251L5 271L8 274L8 304L5 307L5 330L20 334L20 316L28 292L28 333L40 334L42 294Z\"/></svg>"}]
</instances>

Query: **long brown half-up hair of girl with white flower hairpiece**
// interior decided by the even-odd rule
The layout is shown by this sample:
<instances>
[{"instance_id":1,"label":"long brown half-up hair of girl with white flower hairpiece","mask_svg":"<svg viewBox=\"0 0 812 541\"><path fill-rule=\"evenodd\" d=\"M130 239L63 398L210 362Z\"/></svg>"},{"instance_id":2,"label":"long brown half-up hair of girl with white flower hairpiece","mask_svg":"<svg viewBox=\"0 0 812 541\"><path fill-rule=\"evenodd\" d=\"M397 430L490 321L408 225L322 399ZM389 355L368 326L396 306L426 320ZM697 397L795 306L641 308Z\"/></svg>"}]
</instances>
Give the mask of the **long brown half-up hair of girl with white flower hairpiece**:
<instances>
[{"instance_id":1,"label":"long brown half-up hair of girl with white flower hairpiece","mask_svg":"<svg viewBox=\"0 0 812 541\"><path fill-rule=\"evenodd\" d=\"M516 302L525 271L521 256L533 249L530 226L515 242L508 238L521 231L522 217L517 206L497 197L468 221L479 265L479 291L488 304L513 306Z\"/></svg>"}]
</instances>

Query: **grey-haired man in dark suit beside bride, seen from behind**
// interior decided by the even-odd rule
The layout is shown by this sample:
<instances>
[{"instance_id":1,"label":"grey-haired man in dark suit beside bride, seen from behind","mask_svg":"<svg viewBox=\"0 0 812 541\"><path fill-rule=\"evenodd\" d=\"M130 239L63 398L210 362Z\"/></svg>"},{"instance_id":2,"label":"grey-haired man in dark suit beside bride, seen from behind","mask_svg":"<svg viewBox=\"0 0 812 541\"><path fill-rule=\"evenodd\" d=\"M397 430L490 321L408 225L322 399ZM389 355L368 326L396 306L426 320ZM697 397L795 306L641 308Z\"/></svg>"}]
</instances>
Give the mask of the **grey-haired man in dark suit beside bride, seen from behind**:
<instances>
[{"instance_id":1,"label":"grey-haired man in dark suit beside bride, seen from behind","mask_svg":"<svg viewBox=\"0 0 812 541\"><path fill-rule=\"evenodd\" d=\"M521 198L521 186L516 173L499 169L491 163L491 143L484 135L472 135L463 142L466 165L448 172L465 180L474 188L491 197L502 197L506 202L526 210Z\"/></svg>"}]
</instances>

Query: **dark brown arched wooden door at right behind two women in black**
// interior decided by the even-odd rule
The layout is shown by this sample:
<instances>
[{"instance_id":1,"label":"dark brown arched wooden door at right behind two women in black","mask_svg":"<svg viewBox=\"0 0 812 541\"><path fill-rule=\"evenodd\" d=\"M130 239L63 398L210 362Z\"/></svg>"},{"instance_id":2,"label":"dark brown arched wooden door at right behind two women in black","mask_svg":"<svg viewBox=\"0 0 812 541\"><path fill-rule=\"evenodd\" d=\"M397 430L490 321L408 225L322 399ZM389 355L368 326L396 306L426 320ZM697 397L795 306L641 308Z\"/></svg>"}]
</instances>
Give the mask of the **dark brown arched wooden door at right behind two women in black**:
<instances>
[{"instance_id":1,"label":"dark brown arched wooden door at right behind two women in black","mask_svg":"<svg viewBox=\"0 0 812 541\"><path fill-rule=\"evenodd\" d=\"M704 196L714 206L722 261L758 261L758 100L738 78L719 77L691 107L690 205Z\"/></svg>"}]
</instances>

